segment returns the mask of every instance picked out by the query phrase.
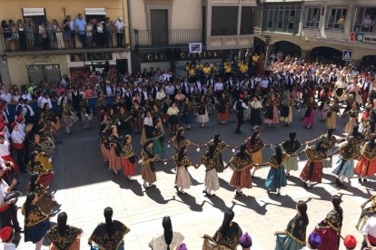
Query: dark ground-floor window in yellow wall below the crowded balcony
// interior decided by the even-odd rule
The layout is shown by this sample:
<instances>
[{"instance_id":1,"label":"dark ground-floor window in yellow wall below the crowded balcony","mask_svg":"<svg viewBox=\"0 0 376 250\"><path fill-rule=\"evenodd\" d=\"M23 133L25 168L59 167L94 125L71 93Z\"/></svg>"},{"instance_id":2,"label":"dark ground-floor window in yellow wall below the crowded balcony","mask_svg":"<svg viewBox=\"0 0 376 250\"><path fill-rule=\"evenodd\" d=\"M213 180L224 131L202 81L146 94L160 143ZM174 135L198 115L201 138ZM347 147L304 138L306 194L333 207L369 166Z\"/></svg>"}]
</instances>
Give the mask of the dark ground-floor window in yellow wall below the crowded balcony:
<instances>
[{"instance_id":1,"label":"dark ground-floor window in yellow wall below the crowded balcony","mask_svg":"<svg viewBox=\"0 0 376 250\"><path fill-rule=\"evenodd\" d=\"M61 81L59 64L31 64L26 68L30 81L44 81L53 86Z\"/></svg>"}]
</instances>

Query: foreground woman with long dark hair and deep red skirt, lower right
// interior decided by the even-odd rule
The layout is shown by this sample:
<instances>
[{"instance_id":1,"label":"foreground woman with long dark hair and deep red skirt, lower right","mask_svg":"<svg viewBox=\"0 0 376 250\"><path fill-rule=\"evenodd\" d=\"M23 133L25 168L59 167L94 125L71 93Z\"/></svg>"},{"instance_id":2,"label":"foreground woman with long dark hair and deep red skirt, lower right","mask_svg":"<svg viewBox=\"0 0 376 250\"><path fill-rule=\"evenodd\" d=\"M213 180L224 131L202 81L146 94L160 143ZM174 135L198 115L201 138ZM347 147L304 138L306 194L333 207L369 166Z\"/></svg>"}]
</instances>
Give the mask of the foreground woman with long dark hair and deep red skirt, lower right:
<instances>
[{"instance_id":1,"label":"foreground woman with long dark hair and deep red skirt, lower right","mask_svg":"<svg viewBox=\"0 0 376 250\"><path fill-rule=\"evenodd\" d=\"M331 197L333 209L328 213L325 219L319 223L319 226L316 226L316 233L322 237L322 245L317 248L318 250L340 249L341 227L343 221L341 202L341 197L337 195Z\"/></svg>"}]
</instances>

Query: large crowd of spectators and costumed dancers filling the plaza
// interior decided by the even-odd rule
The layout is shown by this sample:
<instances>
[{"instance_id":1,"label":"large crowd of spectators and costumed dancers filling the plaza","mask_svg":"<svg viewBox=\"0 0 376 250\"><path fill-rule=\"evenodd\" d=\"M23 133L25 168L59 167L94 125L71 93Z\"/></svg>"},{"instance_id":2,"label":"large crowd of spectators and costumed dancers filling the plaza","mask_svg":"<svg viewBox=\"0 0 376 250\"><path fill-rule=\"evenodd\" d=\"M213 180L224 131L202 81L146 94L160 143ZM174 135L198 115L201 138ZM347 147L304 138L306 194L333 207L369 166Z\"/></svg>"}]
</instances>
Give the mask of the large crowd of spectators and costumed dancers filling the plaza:
<instances>
[{"instance_id":1,"label":"large crowd of spectators and costumed dancers filling the plaza","mask_svg":"<svg viewBox=\"0 0 376 250\"><path fill-rule=\"evenodd\" d=\"M265 72L250 72L251 60L245 58L240 63L224 63L223 73L218 74L215 64L198 62L187 65L187 76L182 81L175 79L172 71L156 69L133 75L93 72L87 80L74 81L64 76L55 88L45 82L38 86L30 82L29 86L19 89L17 86L10 90L3 87L0 94L0 195L3 196L0 197L3 228L0 235L3 241L12 245L13 237L25 231L25 241L33 242L36 249L41 248L45 236L52 240L56 249L80 244L82 230L67 226L65 213L58 215L58 225L51 228L49 218L57 213L60 205L48 193L48 187L54 180L52 155L57 144L56 132L63 125L69 135L78 120L87 130L94 113L100 121L99 139L104 164L115 175L123 172L130 181L136 175L136 165L140 164L145 189L156 188L157 162L168 164L173 161L176 178L172 187L174 185L178 195L185 195L184 189L191 187L189 167L205 168L203 195L210 198L220 188L218 174L223 169L233 168L230 185L235 189L235 196L240 197L243 188L252 188L256 170L270 166L265 189L281 196L287 178L299 170L298 156L303 153L308 161L300 177L306 188L322 182L322 170L331 168L331 156L336 153L340 157L332 166L332 174L337 176L337 187L346 188L345 180L355 175L360 183L372 178L376 173L375 69L304 62L290 56L272 56L271 59ZM96 110L89 105L89 98L95 98ZM55 108L52 99L56 101ZM36 102L36 109L31 101ZM15 103L15 117L10 117L9 103ZM345 106L343 111L341 105ZM278 126L280 122L290 126L296 122L293 109L299 110L302 126L307 130L316 126L315 115L318 115L328 132L304 143L292 132L284 141L265 145L261 138L262 124L270 130L282 129ZM242 133L242 122L250 120L252 136L241 145L224 143L219 133L203 145L185 137L184 130L196 130L196 127L205 130L205 124L214 113L219 124L226 124L231 112L236 114L238 121L236 134ZM336 123L338 116L348 120L343 129L344 138L333 135L334 130L341 130ZM226 126L230 127L229 124ZM168 131L171 137L168 137ZM139 143L143 145L140 154L134 151L134 138L140 139ZM174 155L162 159L160 156L165 147L171 144ZM206 149L200 162L193 163L189 159L187 148L190 146ZM262 150L266 147L274 150L274 154L265 162ZM226 148L233 149L234 154L224 166L222 151ZM19 172L30 174L22 207L25 230L19 226L16 216L15 204L21 195L15 190ZM333 196L331 202L332 210L307 241L307 203L299 201L297 215L284 231L275 233L276 249L339 249L344 219L341 197ZM371 207L366 207L369 202ZM371 248L376 245L376 196L361 208L364 209L357 225L364 235L361 245ZM89 239L94 249L123 249L123 237L130 229L112 216L112 208L105 208L105 223L97 226ZM206 249L235 249L239 244L243 249L251 247L251 237L242 234L233 217L233 211L226 212L222 226L213 237L204 236ZM169 217L163 218L163 229L163 236L155 237L149 243L152 249L187 249L187 245L182 244L183 235L173 232ZM354 241L353 236L348 236L344 244L348 249L354 249ZM67 245L62 246L62 242Z\"/></svg>"}]
</instances>

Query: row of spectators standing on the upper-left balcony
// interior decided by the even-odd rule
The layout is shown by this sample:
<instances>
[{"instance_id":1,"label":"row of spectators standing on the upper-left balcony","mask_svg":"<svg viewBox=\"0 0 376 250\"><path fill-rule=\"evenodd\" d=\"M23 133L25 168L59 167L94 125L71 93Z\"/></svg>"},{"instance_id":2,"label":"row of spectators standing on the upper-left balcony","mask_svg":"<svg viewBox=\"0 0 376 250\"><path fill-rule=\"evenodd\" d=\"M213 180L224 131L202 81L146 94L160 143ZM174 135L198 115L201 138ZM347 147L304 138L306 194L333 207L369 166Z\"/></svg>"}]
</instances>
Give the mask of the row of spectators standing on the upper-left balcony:
<instances>
[{"instance_id":1,"label":"row of spectators standing on the upper-left balcony","mask_svg":"<svg viewBox=\"0 0 376 250\"><path fill-rule=\"evenodd\" d=\"M34 22L25 17L1 22L1 33L8 51L63 50L102 47L124 47L124 21L119 16L116 21L110 17L87 17L77 14L76 18L67 15L63 23L57 20Z\"/></svg>"}]
</instances>

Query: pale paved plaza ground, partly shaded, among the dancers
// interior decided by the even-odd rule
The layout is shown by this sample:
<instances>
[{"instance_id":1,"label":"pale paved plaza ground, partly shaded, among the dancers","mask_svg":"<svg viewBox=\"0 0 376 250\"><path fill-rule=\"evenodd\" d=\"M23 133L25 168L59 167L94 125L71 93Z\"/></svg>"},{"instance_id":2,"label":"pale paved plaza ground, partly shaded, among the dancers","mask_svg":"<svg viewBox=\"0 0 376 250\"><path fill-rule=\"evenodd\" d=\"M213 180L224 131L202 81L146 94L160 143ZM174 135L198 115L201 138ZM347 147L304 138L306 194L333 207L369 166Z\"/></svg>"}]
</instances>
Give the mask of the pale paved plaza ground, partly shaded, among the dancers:
<instances>
[{"instance_id":1,"label":"pale paved plaza ground, partly shaded, among the dancers","mask_svg":"<svg viewBox=\"0 0 376 250\"><path fill-rule=\"evenodd\" d=\"M215 132L221 133L223 141L232 146L238 146L252 130L248 122L242 126L242 134L235 135L235 124L219 125L215 116L200 129L194 124L193 130L186 131L186 137L197 144L204 144L213 138ZM295 111L293 124L277 129L266 129L262 126L262 139L266 144L275 144L288 138L291 131L297 132L297 139L302 143L308 139L317 138L326 132L325 125L316 118L311 130L304 130L302 121ZM232 120L234 117L232 115ZM345 120L338 119L338 130L335 135L341 134ZM94 122L93 122L94 123ZM137 154L141 152L140 136L133 136L134 149ZM170 136L168 136L170 138ZM235 212L234 221L239 223L242 231L248 231L254 242L252 250L273 249L275 231L284 230L289 220L295 216L295 203L298 200L308 200L308 215L310 225L307 233L311 233L316 226L331 210L331 196L342 194L344 221L342 236L352 234L361 239L361 234L356 231L355 225L361 213L361 203L372 194L375 194L375 180L360 185L357 178L351 179L351 186L347 189L339 189L333 185L335 177L331 175L331 169L324 168L322 184L305 189L299 172L292 172L292 178L288 178L288 186L282 188L282 196L266 193L263 187L264 179L270 167L265 167L256 172L258 178L253 179L253 187L244 189L242 197L234 197L234 187L229 185L233 169L227 168L219 174L221 189L216 192L216 197L203 197L203 179L205 170L201 168L189 168L193 186L186 190L186 195L177 195L173 188L174 163L167 165L156 163L157 182L156 188L151 187L144 191L141 179L141 167L137 168L137 177L134 181L128 181L124 175L115 176L104 166L98 141L98 125L93 124L90 130L83 130L81 124L75 124L73 133L65 136L59 134L63 144L56 147L54 153L54 171L56 178L50 187L55 191L56 200L62 204L61 210L68 215L68 224L84 229L81 245L87 249L87 239L94 227L104 222L104 207L114 208L114 219L122 221L131 228L131 232L124 237L125 249L143 250L149 249L148 242L153 236L163 233L162 218L171 216L173 230L181 232L185 236L184 243L190 250L199 250L202 247L204 234L213 235L221 225L223 211L227 207ZM167 149L161 156L167 159L173 155L173 147ZM188 157L195 163L203 155L205 149L200 152L190 147ZM228 161L233 152L224 149L223 160ZM272 149L263 150L263 161L267 161L272 155ZM335 162L337 156L333 158ZM300 168L305 163L302 156ZM25 191L29 175L23 174L20 188ZM349 186L349 185L348 185ZM18 202L22 206L25 197ZM19 212L19 220L24 226L24 216ZM51 221L56 222L56 216ZM25 243L22 238L19 249L33 249L31 243ZM47 246L44 246L47 249ZM343 249L343 248L341 248Z\"/></svg>"}]
</instances>

